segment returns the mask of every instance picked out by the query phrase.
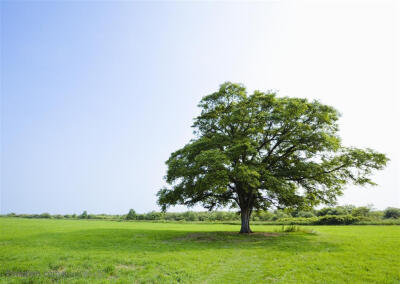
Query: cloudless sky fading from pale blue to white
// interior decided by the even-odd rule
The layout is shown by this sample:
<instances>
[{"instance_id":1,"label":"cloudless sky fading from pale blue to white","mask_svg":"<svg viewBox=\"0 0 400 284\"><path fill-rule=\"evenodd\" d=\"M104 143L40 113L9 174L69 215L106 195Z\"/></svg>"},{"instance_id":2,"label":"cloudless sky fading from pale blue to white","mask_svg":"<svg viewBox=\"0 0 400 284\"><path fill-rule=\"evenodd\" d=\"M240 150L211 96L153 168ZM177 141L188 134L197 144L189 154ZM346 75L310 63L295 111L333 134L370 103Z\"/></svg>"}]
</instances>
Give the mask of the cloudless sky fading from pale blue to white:
<instances>
[{"instance_id":1,"label":"cloudless sky fading from pale blue to white","mask_svg":"<svg viewBox=\"0 0 400 284\"><path fill-rule=\"evenodd\" d=\"M228 80L336 107L345 145L391 159L339 203L400 207L395 2L1 1L1 213L159 210Z\"/></svg>"}]
</instances>

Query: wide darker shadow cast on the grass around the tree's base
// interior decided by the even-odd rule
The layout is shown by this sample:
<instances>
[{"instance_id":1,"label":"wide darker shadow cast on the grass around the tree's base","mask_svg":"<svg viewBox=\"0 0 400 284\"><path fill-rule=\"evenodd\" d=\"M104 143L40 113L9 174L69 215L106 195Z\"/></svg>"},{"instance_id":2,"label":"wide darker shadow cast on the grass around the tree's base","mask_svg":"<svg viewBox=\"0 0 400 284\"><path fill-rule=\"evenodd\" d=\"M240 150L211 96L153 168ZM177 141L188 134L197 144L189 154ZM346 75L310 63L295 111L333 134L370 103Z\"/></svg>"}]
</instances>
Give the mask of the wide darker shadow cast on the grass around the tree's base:
<instances>
[{"instance_id":1,"label":"wide darker shadow cast on the grass around the tree's base","mask_svg":"<svg viewBox=\"0 0 400 284\"><path fill-rule=\"evenodd\" d=\"M125 253L160 253L185 250L266 249L268 251L316 252L338 251L335 243L326 242L318 235L304 232L201 232L180 230L149 230L137 228L86 229L72 232L44 233L32 236L29 246L51 246L73 251L101 251Z\"/></svg>"}]
</instances>

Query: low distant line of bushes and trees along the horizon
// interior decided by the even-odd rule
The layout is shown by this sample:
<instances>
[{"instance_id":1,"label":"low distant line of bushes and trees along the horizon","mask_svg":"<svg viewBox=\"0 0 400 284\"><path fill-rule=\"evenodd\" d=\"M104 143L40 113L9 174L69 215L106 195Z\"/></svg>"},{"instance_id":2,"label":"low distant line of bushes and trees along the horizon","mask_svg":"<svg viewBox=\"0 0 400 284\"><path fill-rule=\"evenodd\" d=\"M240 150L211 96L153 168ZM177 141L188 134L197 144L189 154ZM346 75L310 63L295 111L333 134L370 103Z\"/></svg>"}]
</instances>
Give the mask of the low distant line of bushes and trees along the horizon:
<instances>
[{"instance_id":1,"label":"low distant line of bushes and trees along the horizon","mask_svg":"<svg viewBox=\"0 0 400 284\"><path fill-rule=\"evenodd\" d=\"M3 215L4 216L4 215ZM156 212L138 214L131 209L128 214L82 214L50 215L42 214L15 214L5 216L21 218L51 218L51 219L100 219L116 221L159 221L159 222L232 222L239 223L240 215L231 211L181 213ZM356 207L353 205L325 207L310 211L274 210L259 211L252 214L254 224L298 224L298 225L347 225L347 224L400 224L400 208L389 207L383 211L373 210L371 206Z\"/></svg>"}]
</instances>

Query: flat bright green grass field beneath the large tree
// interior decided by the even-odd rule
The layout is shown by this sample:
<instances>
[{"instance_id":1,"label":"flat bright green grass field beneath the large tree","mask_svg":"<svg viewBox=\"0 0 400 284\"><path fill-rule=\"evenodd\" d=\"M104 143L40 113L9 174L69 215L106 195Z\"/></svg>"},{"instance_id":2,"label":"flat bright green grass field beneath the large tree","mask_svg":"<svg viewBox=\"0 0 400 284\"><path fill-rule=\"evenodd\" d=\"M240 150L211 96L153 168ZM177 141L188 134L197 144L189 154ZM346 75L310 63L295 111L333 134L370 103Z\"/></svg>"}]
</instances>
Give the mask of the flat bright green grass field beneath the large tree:
<instances>
[{"instance_id":1,"label":"flat bright green grass field beneath the large tree","mask_svg":"<svg viewBox=\"0 0 400 284\"><path fill-rule=\"evenodd\" d=\"M400 283L400 226L281 229L0 218L0 282Z\"/></svg>"}]
</instances>

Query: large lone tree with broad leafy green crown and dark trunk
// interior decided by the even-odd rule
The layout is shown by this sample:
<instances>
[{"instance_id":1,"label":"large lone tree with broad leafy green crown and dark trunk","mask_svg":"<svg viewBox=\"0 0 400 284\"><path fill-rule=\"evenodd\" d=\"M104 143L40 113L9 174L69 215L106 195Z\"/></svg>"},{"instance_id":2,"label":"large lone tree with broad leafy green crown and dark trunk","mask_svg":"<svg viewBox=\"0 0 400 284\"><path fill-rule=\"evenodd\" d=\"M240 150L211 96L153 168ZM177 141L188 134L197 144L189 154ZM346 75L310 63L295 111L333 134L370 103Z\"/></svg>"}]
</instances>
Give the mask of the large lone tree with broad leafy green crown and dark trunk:
<instances>
[{"instance_id":1,"label":"large lone tree with broad leafy green crown and dark trunk","mask_svg":"<svg viewBox=\"0 0 400 284\"><path fill-rule=\"evenodd\" d=\"M371 172L388 161L371 149L342 146L338 111L318 101L247 95L243 85L226 82L199 107L196 138L166 162L170 186L158 192L158 203L163 210L240 208L241 233L251 232L254 210L333 204L349 182L374 184Z\"/></svg>"}]
</instances>

